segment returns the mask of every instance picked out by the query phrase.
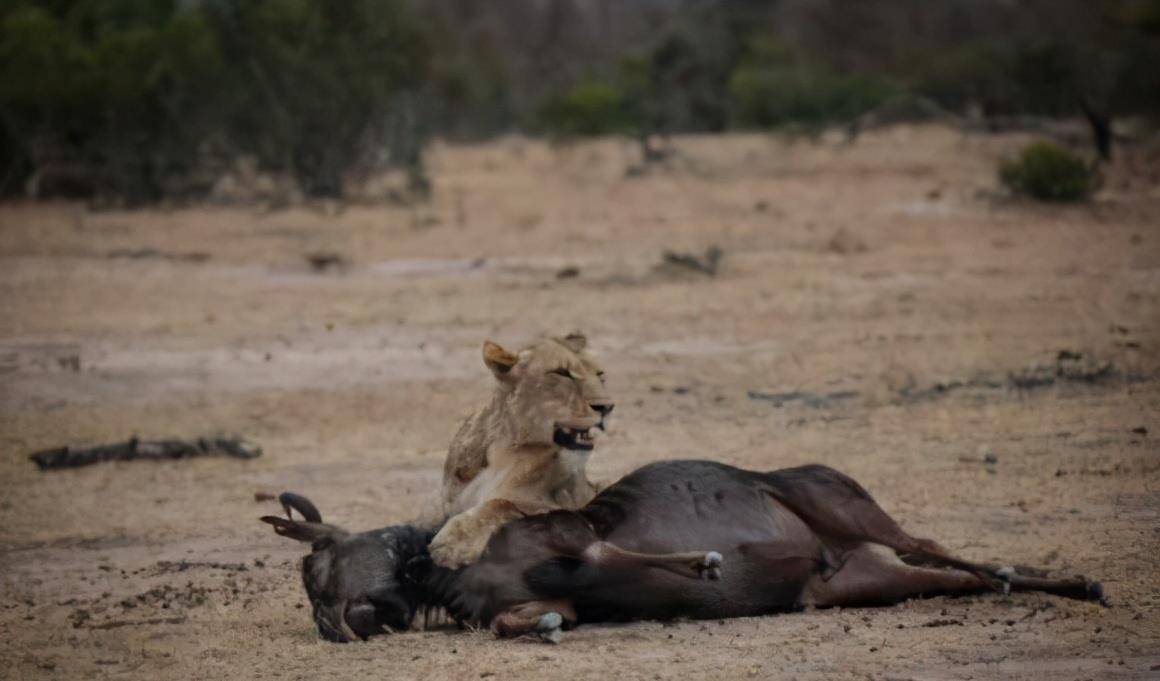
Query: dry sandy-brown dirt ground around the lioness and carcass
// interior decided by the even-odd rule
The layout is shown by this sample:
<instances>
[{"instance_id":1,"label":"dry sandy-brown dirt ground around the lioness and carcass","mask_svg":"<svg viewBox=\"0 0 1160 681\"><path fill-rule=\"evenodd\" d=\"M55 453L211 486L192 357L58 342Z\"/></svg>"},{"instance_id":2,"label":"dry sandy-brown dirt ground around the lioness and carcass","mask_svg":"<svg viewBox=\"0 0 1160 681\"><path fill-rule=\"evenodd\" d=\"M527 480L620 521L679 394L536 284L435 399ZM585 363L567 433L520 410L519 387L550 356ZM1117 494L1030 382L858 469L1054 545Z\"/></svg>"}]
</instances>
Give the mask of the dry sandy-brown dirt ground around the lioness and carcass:
<instances>
[{"instance_id":1,"label":"dry sandy-brown dirt ground around the lioness and carcass","mask_svg":"<svg viewBox=\"0 0 1160 681\"><path fill-rule=\"evenodd\" d=\"M995 191L1023 142L686 138L626 175L619 142L505 139L433 150L418 208L0 207L0 676L1160 676L1157 165L1119 160L1087 205L1032 205ZM655 267L713 244L715 277ZM313 271L327 252L348 265ZM824 462L915 534L1102 579L1111 607L996 594L558 646L320 642L303 548L256 522L275 508L255 491L349 528L415 516L491 390L480 342L573 328L618 398L594 477ZM27 458L215 433L266 454Z\"/></svg>"}]
</instances>

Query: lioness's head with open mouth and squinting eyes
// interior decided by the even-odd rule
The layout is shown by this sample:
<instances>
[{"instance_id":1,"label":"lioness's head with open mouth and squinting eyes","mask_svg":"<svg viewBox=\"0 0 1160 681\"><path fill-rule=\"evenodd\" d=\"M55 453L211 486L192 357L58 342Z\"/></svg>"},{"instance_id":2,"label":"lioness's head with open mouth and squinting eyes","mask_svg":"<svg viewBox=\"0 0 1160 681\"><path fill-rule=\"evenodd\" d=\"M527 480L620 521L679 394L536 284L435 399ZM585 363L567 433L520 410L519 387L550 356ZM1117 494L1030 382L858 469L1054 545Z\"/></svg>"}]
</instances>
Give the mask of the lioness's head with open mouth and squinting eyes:
<instances>
[{"instance_id":1,"label":"lioness's head with open mouth and squinting eyes","mask_svg":"<svg viewBox=\"0 0 1160 681\"><path fill-rule=\"evenodd\" d=\"M556 444L586 451L593 428L615 406L604 371L579 333L551 338L519 353L484 343L484 363L499 382L499 418L517 445Z\"/></svg>"}]
</instances>

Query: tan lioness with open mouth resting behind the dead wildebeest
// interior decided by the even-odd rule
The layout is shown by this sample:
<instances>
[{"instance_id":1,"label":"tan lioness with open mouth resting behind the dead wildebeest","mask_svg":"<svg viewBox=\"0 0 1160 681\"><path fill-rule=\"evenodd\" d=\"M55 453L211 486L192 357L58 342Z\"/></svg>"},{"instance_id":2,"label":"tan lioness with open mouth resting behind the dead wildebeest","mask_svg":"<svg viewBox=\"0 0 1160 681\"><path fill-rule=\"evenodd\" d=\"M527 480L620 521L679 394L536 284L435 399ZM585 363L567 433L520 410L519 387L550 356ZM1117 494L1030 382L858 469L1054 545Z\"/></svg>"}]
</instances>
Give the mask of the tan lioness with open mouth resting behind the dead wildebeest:
<instances>
[{"instance_id":1,"label":"tan lioness with open mouth resting behind the dead wildebeest","mask_svg":"<svg viewBox=\"0 0 1160 681\"><path fill-rule=\"evenodd\" d=\"M595 497L585 472L592 429L603 427L614 404L586 346L579 333L517 354L484 343L495 392L451 441L443 466L442 510L449 520L430 543L435 563L472 563L507 521L580 508Z\"/></svg>"}]
</instances>

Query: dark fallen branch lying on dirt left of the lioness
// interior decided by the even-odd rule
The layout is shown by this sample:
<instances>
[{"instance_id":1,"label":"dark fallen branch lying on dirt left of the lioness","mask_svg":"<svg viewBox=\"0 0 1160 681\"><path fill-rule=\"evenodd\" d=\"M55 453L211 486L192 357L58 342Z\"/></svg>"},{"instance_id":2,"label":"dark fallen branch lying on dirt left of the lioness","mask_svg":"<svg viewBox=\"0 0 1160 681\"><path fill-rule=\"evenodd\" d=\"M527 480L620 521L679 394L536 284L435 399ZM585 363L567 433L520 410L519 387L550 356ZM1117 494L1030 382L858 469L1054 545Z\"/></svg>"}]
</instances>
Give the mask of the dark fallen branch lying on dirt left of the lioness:
<instances>
[{"instance_id":1,"label":"dark fallen branch lying on dirt left of the lioness","mask_svg":"<svg viewBox=\"0 0 1160 681\"><path fill-rule=\"evenodd\" d=\"M31 454L29 458L42 471L51 471L57 469L75 469L104 461L165 461L193 458L195 456L254 458L261 455L261 448L238 437L198 437L194 441L142 441L133 437L128 442L99 444L96 447L56 447Z\"/></svg>"}]
</instances>

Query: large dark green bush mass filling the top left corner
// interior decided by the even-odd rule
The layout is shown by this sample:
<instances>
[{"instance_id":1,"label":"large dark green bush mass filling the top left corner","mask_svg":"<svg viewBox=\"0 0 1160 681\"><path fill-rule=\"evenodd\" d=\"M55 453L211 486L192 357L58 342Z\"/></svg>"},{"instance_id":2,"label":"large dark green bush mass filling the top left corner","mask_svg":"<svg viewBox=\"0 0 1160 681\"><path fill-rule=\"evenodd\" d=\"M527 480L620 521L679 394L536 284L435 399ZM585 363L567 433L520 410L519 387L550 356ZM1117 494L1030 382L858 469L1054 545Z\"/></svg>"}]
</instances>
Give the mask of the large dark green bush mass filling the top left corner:
<instances>
[{"instance_id":1,"label":"large dark green bush mass filling the top left corner","mask_svg":"<svg viewBox=\"0 0 1160 681\"><path fill-rule=\"evenodd\" d=\"M206 167L240 154L310 195L384 158L415 172L406 95L429 53L406 0L10 0L0 194L29 172L51 194L64 172L80 195L152 201L208 189Z\"/></svg>"}]
</instances>

